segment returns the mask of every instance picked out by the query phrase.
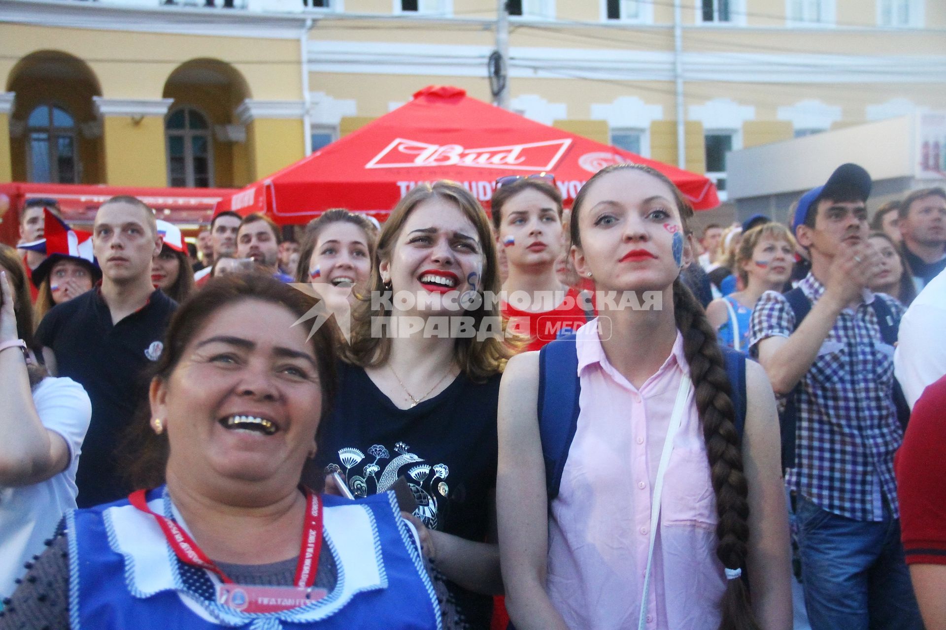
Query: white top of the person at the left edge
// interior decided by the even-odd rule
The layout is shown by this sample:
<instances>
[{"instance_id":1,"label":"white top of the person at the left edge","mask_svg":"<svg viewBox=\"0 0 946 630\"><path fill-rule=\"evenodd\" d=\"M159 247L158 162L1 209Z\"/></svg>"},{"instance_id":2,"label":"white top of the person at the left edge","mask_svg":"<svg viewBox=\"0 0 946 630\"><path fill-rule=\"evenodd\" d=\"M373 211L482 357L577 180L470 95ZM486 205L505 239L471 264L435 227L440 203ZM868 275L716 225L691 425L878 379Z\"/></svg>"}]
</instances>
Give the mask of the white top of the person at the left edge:
<instances>
[{"instance_id":1,"label":"white top of the person at the left edge","mask_svg":"<svg viewBox=\"0 0 946 630\"><path fill-rule=\"evenodd\" d=\"M0 599L15 590L13 581L26 573L23 564L43 553L62 514L76 507L76 468L92 417L89 395L72 379L44 379L33 389L33 402L44 427L65 440L69 466L39 484L0 486Z\"/></svg>"}]
</instances>

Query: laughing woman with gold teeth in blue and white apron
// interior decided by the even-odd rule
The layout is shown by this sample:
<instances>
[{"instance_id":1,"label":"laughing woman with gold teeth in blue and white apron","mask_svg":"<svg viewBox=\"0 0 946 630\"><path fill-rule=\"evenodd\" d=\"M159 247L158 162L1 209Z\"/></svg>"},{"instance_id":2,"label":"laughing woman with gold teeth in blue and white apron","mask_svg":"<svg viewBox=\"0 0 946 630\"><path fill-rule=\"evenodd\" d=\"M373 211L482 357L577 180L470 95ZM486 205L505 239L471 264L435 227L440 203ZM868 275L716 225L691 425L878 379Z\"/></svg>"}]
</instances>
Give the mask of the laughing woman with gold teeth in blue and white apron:
<instances>
[{"instance_id":1,"label":"laughing woman with gold teeth in blue and white apron","mask_svg":"<svg viewBox=\"0 0 946 630\"><path fill-rule=\"evenodd\" d=\"M396 502L300 485L335 389L332 336L293 326L312 305L263 274L181 305L134 427L139 489L68 513L0 628L438 627Z\"/></svg>"}]
</instances>

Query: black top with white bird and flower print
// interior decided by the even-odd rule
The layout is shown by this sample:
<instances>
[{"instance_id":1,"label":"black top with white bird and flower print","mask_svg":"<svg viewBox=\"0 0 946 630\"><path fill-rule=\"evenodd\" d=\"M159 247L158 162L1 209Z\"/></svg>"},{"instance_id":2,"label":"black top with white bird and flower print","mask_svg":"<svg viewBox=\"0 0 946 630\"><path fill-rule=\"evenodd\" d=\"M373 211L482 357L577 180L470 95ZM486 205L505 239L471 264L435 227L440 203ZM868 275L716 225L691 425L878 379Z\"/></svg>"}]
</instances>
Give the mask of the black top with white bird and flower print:
<instances>
[{"instance_id":1,"label":"black top with white bird and flower print","mask_svg":"<svg viewBox=\"0 0 946 630\"><path fill-rule=\"evenodd\" d=\"M340 364L319 463L341 469L356 497L387 490L403 476L417 500L415 517L482 542L496 487L499 379L473 383L461 373L437 396L398 409L364 369ZM447 589L465 627L489 628L491 597L449 581Z\"/></svg>"}]
</instances>

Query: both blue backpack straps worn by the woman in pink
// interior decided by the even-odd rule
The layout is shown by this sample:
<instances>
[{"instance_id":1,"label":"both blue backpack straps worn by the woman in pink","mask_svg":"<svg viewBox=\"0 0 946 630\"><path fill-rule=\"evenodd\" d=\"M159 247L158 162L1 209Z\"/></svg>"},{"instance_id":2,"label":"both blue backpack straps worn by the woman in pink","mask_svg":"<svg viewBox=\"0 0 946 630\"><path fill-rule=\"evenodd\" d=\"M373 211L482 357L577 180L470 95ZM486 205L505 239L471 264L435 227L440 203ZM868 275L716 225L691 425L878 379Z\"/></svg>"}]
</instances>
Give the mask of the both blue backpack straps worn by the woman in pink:
<instances>
[{"instance_id":1,"label":"both blue backpack straps worn by the woman in pink","mask_svg":"<svg viewBox=\"0 0 946 630\"><path fill-rule=\"evenodd\" d=\"M740 440L745 429L745 354L720 346L726 360L726 374L732 392L729 398L736 410L736 433ZM545 459L546 488L549 501L558 496L562 470L569 457L571 440L578 427L579 394L578 351L574 333L560 335L538 353L538 430Z\"/></svg>"}]
</instances>

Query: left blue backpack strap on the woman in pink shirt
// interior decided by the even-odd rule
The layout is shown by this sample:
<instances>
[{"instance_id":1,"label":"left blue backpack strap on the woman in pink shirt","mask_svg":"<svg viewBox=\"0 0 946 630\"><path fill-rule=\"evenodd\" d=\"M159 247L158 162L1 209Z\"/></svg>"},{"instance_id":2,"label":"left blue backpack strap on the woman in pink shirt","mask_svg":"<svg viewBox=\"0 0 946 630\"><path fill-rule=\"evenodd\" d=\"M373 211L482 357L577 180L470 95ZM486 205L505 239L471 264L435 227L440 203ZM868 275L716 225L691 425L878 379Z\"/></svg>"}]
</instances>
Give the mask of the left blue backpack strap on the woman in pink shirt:
<instances>
[{"instance_id":1,"label":"left blue backpack strap on the woman in pink shirt","mask_svg":"<svg viewBox=\"0 0 946 630\"><path fill-rule=\"evenodd\" d=\"M558 496L562 470L578 427L580 394L575 335L561 334L538 352L538 432L550 502Z\"/></svg>"}]
</instances>

